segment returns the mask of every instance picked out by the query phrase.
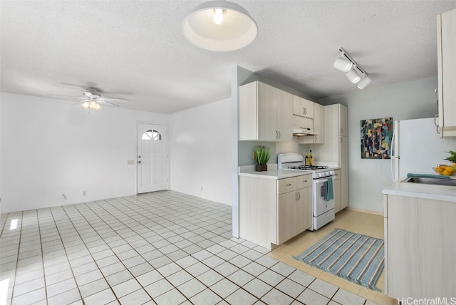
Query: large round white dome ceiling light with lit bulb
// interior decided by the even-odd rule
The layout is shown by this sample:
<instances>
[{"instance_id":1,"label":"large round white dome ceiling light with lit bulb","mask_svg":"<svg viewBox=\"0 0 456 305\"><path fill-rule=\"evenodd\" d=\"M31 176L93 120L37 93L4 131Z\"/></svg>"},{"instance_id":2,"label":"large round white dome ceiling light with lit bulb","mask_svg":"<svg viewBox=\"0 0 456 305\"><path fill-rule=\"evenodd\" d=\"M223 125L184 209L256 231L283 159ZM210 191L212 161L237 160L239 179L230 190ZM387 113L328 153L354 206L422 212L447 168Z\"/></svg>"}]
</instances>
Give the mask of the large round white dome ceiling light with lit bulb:
<instances>
[{"instance_id":1,"label":"large round white dome ceiling light with lit bulb","mask_svg":"<svg viewBox=\"0 0 456 305\"><path fill-rule=\"evenodd\" d=\"M257 23L242 6L208 1L195 7L182 23L188 41L209 51L234 51L257 37Z\"/></svg>"}]
</instances>

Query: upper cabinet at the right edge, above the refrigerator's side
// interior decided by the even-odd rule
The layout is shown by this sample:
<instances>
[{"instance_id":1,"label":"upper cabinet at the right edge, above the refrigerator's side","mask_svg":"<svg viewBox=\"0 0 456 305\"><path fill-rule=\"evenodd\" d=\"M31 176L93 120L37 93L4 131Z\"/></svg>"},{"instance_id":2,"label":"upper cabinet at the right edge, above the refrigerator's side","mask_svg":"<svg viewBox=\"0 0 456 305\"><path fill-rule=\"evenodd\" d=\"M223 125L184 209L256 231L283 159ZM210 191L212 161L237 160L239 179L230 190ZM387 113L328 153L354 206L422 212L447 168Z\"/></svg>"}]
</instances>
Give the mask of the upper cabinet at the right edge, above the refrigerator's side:
<instances>
[{"instance_id":1,"label":"upper cabinet at the right edge, above the refrigerator's side","mask_svg":"<svg viewBox=\"0 0 456 305\"><path fill-rule=\"evenodd\" d=\"M456 9L437 15L437 78L441 137L456 136Z\"/></svg>"}]
</instances>

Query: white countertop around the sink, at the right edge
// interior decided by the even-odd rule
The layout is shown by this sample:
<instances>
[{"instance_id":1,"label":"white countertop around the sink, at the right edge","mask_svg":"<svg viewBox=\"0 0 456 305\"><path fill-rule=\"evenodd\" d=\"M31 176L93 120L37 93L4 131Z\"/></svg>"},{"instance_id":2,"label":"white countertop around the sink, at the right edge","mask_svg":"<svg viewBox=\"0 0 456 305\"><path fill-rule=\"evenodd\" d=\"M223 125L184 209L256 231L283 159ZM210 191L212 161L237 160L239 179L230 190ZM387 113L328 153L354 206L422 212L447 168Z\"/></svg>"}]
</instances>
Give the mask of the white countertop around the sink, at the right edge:
<instances>
[{"instance_id":1,"label":"white countertop around the sink, at the right edge","mask_svg":"<svg viewBox=\"0 0 456 305\"><path fill-rule=\"evenodd\" d=\"M382 191L383 194L456 202L456 187L400 182L405 179L407 178L403 177L390 187L385 188Z\"/></svg>"}]
</instances>

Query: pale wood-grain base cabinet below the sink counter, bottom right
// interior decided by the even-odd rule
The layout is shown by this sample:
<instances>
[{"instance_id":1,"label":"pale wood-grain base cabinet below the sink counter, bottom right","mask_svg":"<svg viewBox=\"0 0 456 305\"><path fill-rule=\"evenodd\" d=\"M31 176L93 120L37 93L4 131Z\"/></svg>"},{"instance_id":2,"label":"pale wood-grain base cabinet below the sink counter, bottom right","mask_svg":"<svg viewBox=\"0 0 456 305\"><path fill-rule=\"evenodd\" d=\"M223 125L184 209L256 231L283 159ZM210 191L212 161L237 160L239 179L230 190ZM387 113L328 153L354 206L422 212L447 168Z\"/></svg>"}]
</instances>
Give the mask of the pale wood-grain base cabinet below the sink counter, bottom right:
<instances>
[{"instance_id":1,"label":"pale wood-grain base cabinet below the sink counter, bottom right","mask_svg":"<svg viewBox=\"0 0 456 305\"><path fill-rule=\"evenodd\" d=\"M456 202L384 195L385 294L450 302L456 295L455 215Z\"/></svg>"}]
</instances>

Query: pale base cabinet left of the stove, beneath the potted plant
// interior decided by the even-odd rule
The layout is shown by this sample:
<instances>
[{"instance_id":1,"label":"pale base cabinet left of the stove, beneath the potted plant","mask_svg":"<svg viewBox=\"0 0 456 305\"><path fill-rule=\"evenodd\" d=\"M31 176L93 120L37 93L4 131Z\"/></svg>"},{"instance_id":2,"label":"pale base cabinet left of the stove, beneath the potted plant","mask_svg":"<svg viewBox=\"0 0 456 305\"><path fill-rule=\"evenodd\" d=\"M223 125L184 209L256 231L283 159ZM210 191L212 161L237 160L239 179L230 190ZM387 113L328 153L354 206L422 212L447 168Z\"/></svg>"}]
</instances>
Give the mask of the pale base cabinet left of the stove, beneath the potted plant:
<instances>
[{"instance_id":1,"label":"pale base cabinet left of the stove, beneath the potted plant","mask_svg":"<svg viewBox=\"0 0 456 305\"><path fill-rule=\"evenodd\" d=\"M284 179L239 176L239 233L272 249L312 225L311 175Z\"/></svg>"}]
</instances>

